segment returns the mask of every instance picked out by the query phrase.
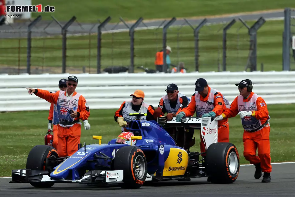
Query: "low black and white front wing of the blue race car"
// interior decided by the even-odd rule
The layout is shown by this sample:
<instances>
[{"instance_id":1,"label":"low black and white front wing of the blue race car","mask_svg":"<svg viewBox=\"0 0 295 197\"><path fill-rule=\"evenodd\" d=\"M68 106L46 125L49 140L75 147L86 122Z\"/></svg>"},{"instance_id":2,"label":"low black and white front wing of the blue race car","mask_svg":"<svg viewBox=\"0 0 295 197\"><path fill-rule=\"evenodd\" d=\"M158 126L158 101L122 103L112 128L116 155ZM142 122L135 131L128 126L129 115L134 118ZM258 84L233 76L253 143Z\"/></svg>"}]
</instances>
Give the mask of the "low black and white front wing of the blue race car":
<instances>
[{"instance_id":1,"label":"low black and white front wing of the blue race car","mask_svg":"<svg viewBox=\"0 0 295 197\"><path fill-rule=\"evenodd\" d=\"M52 180L46 170L19 169L12 170L11 183L123 183L123 170L92 170L85 173L79 180ZM147 174L146 181L152 180Z\"/></svg>"}]
</instances>

